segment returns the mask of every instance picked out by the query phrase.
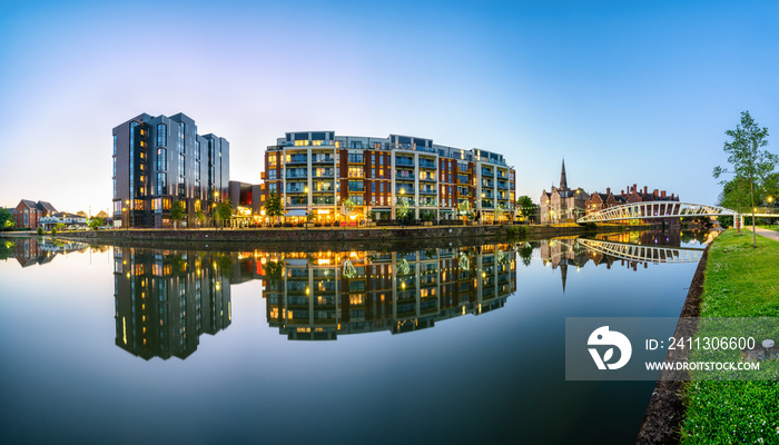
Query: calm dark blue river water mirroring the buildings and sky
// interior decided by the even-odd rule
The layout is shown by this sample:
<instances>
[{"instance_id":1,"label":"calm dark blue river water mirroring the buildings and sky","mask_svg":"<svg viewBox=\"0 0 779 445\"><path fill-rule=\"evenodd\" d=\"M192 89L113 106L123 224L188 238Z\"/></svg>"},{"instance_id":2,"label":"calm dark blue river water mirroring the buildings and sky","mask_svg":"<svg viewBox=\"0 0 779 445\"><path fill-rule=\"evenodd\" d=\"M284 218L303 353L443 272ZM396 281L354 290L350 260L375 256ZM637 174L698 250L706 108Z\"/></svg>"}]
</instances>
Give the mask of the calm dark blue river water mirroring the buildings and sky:
<instances>
[{"instance_id":1,"label":"calm dark blue river water mirroring the buildings and sky","mask_svg":"<svg viewBox=\"0 0 779 445\"><path fill-rule=\"evenodd\" d=\"M599 238L618 243L6 244L2 442L632 443L654 384L565 382L564 319L678 316L694 253L607 253L707 235Z\"/></svg>"}]
</instances>

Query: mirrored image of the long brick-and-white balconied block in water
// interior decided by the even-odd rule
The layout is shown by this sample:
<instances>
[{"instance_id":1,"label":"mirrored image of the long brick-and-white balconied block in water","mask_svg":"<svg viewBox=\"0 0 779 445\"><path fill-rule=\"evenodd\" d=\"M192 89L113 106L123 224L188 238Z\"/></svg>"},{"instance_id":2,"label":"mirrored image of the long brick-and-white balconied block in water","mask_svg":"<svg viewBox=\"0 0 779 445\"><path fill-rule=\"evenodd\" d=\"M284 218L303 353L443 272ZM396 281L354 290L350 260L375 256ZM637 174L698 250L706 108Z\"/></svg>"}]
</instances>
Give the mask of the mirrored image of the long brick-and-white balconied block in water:
<instances>
[{"instance_id":1,"label":"mirrored image of the long brick-and-white balconied block in water","mask_svg":"<svg viewBox=\"0 0 779 445\"><path fill-rule=\"evenodd\" d=\"M511 244L268 254L258 260L268 324L297 340L424 329L501 308L516 290Z\"/></svg>"}]
</instances>

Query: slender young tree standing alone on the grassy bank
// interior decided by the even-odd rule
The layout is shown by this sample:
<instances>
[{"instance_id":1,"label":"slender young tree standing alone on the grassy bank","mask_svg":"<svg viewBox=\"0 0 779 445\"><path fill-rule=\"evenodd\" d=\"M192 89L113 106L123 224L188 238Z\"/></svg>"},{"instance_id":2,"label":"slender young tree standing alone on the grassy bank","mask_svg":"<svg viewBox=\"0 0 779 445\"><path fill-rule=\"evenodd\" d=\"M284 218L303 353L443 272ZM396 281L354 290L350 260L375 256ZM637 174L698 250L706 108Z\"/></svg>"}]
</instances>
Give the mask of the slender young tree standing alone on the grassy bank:
<instances>
[{"instance_id":1,"label":"slender young tree standing alone on the grassy bank","mask_svg":"<svg viewBox=\"0 0 779 445\"><path fill-rule=\"evenodd\" d=\"M731 138L724 142L724 152L728 154L728 162L733 167L736 179L749 181L750 208L752 210L752 246L758 247L757 235L755 233L755 186L762 189L762 184L767 177L773 172L779 162L779 157L761 148L768 146L768 128L760 128L749 116L749 111L741 112L741 122L734 130L724 132ZM722 167L714 167L713 176L719 178L723 172L728 172ZM723 184L727 181L722 181Z\"/></svg>"}]
</instances>

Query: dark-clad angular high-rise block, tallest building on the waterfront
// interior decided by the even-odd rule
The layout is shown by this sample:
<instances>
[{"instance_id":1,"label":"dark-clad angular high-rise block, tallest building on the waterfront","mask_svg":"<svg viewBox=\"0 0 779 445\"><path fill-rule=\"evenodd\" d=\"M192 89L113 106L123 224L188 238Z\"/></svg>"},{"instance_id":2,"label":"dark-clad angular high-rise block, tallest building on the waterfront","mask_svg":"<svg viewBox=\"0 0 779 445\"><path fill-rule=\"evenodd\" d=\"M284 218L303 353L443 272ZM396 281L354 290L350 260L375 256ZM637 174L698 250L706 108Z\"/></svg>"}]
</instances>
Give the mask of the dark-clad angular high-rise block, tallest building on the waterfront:
<instances>
[{"instance_id":1,"label":"dark-clad angular high-rise block, tallest building on the waterfront","mask_svg":"<svg viewBox=\"0 0 779 445\"><path fill-rule=\"evenodd\" d=\"M195 121L139 115L114 128L114 224L170 227L170 206L185 205L183 225L196 212L207 218L227 198L230 146L225 138L197 134Z\"/></svg>"}]
</instances>

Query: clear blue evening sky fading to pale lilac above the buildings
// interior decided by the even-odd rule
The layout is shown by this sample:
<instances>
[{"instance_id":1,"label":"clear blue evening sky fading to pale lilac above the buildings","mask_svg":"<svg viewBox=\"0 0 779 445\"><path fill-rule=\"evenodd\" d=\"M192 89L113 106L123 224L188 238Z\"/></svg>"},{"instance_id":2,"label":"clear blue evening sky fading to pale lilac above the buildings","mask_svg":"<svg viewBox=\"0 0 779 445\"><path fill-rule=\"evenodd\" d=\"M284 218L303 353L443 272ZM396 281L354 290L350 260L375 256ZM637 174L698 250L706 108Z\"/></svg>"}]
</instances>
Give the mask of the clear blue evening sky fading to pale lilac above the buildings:
<instances>
[{"instance_id":1,"label":"clear blue evening sky fading to pale lilac above the buildings","mask_svg":"<svg viewBox=\"0 0 779 445\"><path fill-rule=\"evenodd\" d=\"M111 130L147 112L260 182L287 131L501 152L517 196L628 185L714 204L724 131L779 134L773 1L1 1L0 206L111 206ZM769 150L779 141L769 136Z\"/></svg>"}]
</instances>

